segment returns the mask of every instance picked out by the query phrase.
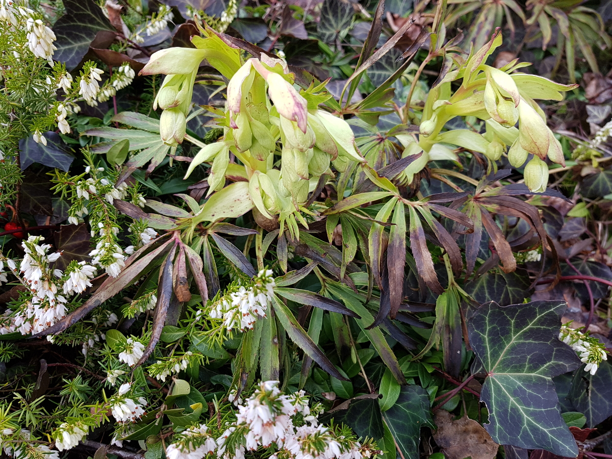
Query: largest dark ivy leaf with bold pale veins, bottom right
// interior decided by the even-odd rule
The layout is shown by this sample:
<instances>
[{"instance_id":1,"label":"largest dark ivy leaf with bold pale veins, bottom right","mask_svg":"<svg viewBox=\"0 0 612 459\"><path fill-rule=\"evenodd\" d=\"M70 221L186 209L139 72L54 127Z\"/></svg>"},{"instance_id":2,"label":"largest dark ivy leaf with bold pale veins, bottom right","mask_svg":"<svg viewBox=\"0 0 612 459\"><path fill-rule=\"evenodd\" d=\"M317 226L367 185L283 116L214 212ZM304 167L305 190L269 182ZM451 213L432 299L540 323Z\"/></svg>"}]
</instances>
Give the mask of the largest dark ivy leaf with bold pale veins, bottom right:
<instances>
[{"instance_id":1,"label":"largest dark ivy leaf with bold pale veins, bottom right","mask_svg":"<svg viewBox=\"0 0 612 459\"><path fill-rule=\"evenodd\" d=\"M559 412L553 376L580 365L558 340L564 301L480 306L469 320L469 342L487 371L480 400L485 428L498 444L576 457L578 447Z\"/></svg>"}]
</instances>

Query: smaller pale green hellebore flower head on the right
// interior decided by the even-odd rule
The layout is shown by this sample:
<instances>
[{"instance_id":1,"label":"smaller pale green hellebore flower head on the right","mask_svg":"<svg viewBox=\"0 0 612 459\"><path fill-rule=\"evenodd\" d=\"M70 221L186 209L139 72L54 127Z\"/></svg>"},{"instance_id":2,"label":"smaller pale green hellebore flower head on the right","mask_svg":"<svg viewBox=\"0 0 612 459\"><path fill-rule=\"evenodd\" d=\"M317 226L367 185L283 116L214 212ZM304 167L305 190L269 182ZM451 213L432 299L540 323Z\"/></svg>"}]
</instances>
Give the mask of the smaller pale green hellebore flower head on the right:
<instances>
[{"instance_id":1,"label":"smaller pale green hellebore flower head on the right","mask_svg":"<svg viewBox=\"0 0 612 459\"><path fill-rule=\"evenodd\" d=\"M453 146L484 154L490 160L490 169L507 147L510 147L509 162L517 168L524 165L529 154L534 155L524 170L525 184L532 192L543 192L546 188L548 166L544 160L547 157L564 165L561 144L548 129L546 116L534 99L562 100L561 92L570 91L576 85L554 83L537 75L510 73L529 65L518 63L517 59L501 69L485 65L488 56L501 43L498 33L465 61L455 56L453 69L428 94L418 141L409 135L398 136L405 146L403 157L423 152L403 172L406 184L412 182L414 174L428 161L455 159ZM456 80L462 80L461 86L452 93L451 82ZM442 132L444 125L455 116L470 115L485 121L485 133L481 135L468 129Z\"/></svg>"}]
</instances>

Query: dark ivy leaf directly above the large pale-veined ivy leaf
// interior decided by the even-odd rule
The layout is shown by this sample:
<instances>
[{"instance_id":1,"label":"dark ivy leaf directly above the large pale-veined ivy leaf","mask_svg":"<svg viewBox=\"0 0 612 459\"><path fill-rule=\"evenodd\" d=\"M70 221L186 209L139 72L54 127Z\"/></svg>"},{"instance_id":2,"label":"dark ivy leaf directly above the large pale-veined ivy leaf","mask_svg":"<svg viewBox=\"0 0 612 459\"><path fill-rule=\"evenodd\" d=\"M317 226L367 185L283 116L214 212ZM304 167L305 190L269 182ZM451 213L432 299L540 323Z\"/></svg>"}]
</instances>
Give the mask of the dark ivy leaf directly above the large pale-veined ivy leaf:
<instances>
[{"instance_id":1,"label":"dark ivy leaf directly above the large pale-veined ivy leaf","mask_svg":"<svg viewBox=\"0 0 612 459\"><path fill-rule=\"evenodd\" d=\"M500 306L517 304L529 296L529 276L523 269L498 274L488 272L476 280L466 283L465 291L479 304L487 302L490 298L498 299Z\"/></svg>"}]
</instances>

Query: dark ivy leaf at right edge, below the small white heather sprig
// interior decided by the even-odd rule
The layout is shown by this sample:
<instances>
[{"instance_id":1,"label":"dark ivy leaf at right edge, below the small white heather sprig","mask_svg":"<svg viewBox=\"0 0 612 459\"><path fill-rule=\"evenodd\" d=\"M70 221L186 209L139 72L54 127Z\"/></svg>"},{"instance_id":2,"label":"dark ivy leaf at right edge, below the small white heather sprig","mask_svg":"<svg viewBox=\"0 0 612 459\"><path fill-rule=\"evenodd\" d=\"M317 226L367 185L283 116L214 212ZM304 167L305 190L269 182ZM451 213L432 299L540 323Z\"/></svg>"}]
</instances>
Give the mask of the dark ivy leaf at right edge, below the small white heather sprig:
<instances>
[{"instance_id":1,"label":"dark ivy leaf at right edge, below the small white heather sprig","mask_svg":"<svg viewBox=\"0 0 612 459\"><path fill-rule=\"evenodd\" d=\"M591 375L580 368L567 396L577 411L586 416L586 425L595 425L612 416L612 365L603 361Z\"/></svg>"}]
</instances>

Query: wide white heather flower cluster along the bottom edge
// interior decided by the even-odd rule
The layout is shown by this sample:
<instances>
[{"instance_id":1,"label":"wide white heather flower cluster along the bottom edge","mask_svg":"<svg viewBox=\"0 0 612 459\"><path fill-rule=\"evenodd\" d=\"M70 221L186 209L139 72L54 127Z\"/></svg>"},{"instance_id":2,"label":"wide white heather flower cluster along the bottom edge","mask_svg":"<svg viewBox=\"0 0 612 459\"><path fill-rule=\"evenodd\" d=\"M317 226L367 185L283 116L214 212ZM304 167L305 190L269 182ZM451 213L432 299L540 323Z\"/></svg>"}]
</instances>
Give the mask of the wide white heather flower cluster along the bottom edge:
<instances>
[{"instance_id":1,"label":"wide white heather flower cluster along the bottom edge","mask_svg":"<svg viewBox=\"0 0 612 459\"><path fill-rule=\"evenodd\" d=\"M275 447L274 459L361 459L371 456L371 444L335 435L318 425L304 391L282 394L278 381L260 383L253 395L238 405L236 421L214 438L206 425L196 425L174 436L168 459L201 459L209 453L220 459L244 459L245 452ZM318 413L318 407L313 407ZM297 417L297 416L300 417ZM298 424L294 424L297 422Z\"/></svg>"}]
</instances>

